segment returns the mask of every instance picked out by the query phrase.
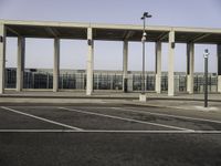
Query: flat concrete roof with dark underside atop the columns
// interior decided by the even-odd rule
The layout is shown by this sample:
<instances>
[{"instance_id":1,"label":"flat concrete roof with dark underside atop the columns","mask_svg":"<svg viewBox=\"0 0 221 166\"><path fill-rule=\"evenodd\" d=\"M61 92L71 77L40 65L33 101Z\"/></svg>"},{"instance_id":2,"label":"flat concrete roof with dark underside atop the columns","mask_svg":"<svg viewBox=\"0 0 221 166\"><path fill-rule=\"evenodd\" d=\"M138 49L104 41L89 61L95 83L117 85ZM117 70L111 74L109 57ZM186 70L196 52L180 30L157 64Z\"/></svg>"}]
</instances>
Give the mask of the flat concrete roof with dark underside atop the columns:
<instances>
[{"instance_id":1,"label":"flat concrete roof with dark underside atop the columns","mask_svg":"<svg viewBox=\"0 0 221 166\"><path fill-rule=\"evenodd\" d=\"M7 27L7 37L25 38L61 38L61 39L87 39L87 28L93 29L94 40L107 41L140 41L143 25L131 24L102 24L76 22L50 22L50 21L13 21L0 20ZM168 32L175 31L177 43L208 43L221 44L221 29L207 28L180 28L148 25L147 41L168 41Z\"/></svg>"}]
</instances>

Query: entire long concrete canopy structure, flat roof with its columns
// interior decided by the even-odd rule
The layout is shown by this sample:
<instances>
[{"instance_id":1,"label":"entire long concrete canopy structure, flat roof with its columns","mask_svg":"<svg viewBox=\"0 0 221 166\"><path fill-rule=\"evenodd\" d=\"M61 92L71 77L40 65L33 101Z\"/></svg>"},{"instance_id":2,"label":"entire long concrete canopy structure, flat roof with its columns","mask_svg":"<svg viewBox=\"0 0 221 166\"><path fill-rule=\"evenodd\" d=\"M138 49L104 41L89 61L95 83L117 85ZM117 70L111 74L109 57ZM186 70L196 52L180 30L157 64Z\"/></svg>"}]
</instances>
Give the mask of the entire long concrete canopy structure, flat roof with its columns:
<instances>
[{"instance_id":1,"label":"entire long concrete canopy structure, flat roof with its columns","mask_svg":"<svg viewBox=\"0 0 221 166\"><path fill-rule=\"evenodd\" d=\"M173 95L173 54L175 43L187 43L187 86L188 92L193 93L193 44L218 44L218 91L221 92L221 29L202 28L176 28L176 27L146 27L147 42L156 42L156 91L160 93L161 73L161 42L169 43L168 50L168 95ZM11 21L0 20L0 93L4 90L4 65L6 65L6 37L19 39L18 73L23 75L24 69L24 41L25 38L51 38L54 39L54 87L57 91L57 76L60 65L60 39L87 40L87 86L86 94L93 92L93 68L94 68L94 40L123 41L124 79L127 77L128 42L140 42L143 35L141 25L126 24L96 24L96 23L72 23L72 22L44 22L44 21ZM17 76L17 90L22 89L22 76Z\"/></svg>"}]
</instances>

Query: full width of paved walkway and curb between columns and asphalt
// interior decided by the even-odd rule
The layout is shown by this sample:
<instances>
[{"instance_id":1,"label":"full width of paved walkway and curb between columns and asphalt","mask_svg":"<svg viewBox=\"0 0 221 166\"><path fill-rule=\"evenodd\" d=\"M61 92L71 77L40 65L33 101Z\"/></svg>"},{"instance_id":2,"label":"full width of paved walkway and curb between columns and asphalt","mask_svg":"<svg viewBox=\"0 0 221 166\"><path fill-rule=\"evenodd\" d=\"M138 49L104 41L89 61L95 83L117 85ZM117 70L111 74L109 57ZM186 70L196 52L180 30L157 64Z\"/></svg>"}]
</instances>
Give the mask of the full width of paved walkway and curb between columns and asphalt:
<instances>
[{"instance_id":1,"label":"full width of paved walkway and curb between columns and asphalt","mask_svg":"<svg viewBox=\"0 0 221 166\"><path fill-rule=\"evenodd\" d=\"M199 110L221 112L221 94L209 94L209 107L203 107L203 94L179 93L175 96L168 96L166 93L148 93L147 102L139 102L139 93L122 93L108 91L95 91L93 95L87 96L82 91L66 92L46 92L46 91L6 91L0 95L0 103L118 103L118 104L136 104L160 107L175 107L182 110Z\"/></svg>"}]
</instances>

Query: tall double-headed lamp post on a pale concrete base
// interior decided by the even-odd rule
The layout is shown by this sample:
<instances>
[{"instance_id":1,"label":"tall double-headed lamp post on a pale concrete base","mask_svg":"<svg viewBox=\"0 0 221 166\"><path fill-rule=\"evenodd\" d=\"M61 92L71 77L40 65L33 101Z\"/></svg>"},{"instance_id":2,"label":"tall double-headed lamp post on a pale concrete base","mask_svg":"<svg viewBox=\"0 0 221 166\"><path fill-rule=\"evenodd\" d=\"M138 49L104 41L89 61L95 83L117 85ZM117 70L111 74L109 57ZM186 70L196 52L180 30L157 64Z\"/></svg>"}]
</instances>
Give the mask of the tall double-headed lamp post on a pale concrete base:
<instances>
[{"instance_id":1,"label":"tall double-headed lamp post on a pale concrete base","mask_svg":"<svg viewBox=\"0 0 221 166\"><path fill-rule=\"evenodd\" d=\"M145 42L147 33L145 32L146 29L146 18L151 18L151 15L148 12L144 12L141 20L144 21L144 28L143 28L143 37L141 37L141 43L143 43L143 74L141 74L141 95L139 97L140 101L146 101L145 95Z\"/></svg>"}]
</instances>

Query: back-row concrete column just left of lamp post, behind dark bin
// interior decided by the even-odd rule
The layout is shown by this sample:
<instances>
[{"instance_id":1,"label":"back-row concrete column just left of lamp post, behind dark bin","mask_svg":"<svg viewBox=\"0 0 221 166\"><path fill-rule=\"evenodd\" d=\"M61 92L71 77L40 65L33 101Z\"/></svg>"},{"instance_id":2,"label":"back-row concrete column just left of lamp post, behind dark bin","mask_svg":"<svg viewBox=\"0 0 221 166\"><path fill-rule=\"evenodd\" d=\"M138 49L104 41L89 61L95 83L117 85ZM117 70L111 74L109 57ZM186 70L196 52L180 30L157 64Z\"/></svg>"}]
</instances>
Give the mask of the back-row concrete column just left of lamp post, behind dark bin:
<instances>
[{"instance_id":1,"label":"back-row concrete column just left of lamp post, behind dark bin","mask_svg":"<svg viewBox=\"0 0 221 166\"><path fill-rule=\"evenodd\" d=\"M128 89L128 81L125 82L125 80L128 79L127 70L128 70L128 41L124 41L124 46L123 46L123 91L124 92L125 92L125 85Z\"/></svg>"}]
</instances>

